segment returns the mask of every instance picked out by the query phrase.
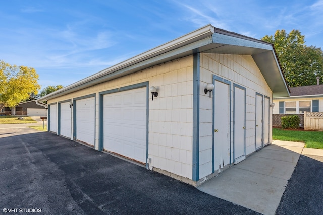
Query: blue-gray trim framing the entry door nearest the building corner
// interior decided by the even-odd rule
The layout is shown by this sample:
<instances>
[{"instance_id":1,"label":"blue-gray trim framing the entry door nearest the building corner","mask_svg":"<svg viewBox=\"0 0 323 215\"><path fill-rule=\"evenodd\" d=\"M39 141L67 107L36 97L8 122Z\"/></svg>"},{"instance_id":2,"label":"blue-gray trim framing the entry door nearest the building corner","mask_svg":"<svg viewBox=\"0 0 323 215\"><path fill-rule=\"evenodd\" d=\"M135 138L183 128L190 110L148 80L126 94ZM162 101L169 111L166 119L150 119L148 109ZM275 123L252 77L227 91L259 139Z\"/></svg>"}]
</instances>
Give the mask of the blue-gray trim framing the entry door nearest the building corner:
<instances>
[{"instance_id":1,"label":"blue-gray trim framing the entry door nearest the building corner","mask_svg":"<svg viewBox=\"0 0 323 215\"><path fill-rule=\"evenodd\" d=\"M215 111L216 111L216 107L215 107L215 97L216 97L216 92L215 92L215 86L216 86L216 81L222 82L224 84L229 85L229 130L230 130L230 135L229 135L229 144L230 144L230 158L229 158L229 164L231 164L231 81L226 80L222 77L213 75L213 84L214 84L214 90L213 90L213 116L212 116L212 173L215 172L215 166L214 166L214 144L215 144L215 139L214 139L214 127L216 126L216 122L215 122ZM221 93L221 92L220 92Z\"/></svg>"}]
</instances>

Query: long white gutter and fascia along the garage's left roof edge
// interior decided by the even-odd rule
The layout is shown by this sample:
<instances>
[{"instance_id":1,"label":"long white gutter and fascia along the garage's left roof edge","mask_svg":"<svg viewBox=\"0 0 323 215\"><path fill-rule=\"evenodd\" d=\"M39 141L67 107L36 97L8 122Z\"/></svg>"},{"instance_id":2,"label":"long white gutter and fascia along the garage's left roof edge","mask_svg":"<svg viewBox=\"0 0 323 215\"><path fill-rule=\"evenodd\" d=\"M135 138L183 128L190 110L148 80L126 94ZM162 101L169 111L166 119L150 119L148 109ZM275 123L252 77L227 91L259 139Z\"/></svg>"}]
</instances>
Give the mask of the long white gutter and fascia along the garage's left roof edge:
<instances>
[{"instance_id":1,"label":"long white gutter and fascia along the garage's left roof edge","mask_svg":"<svg viewBox=\"0 0 323 215\"><path fill-rule=\"evenodd\" d=\"M214 33L214 27L212 25L206 25L200 29L197 29L191 33L188 33L184 36L181 36L175 40L172 40L168 43L165 43L163 45L160 45L156 48L153 48L151 50L148 50L142 54L139 54L135 57L132 57L128 60L125 60L121 63L118 63L114 66L111 66L109 68L106 68L102 71L99 71L98 73L92 75L92 76L89 76L87 78L84 78L78 82L75 82L71 85L68 85L64 88L61 88L55 92L52 92L46 96L43 96L39 99L37 99L38 102L40 101L46 101L48 98L55 98L56 96L55 95L58 95L58 94L61 94L61 93L64 93L65 91L69 90L69 89L72 89L72 88L75 88L77 86L80 86L80 85L83 85L87 82L90 82L90 81L93 81L95 79L98 79L102 76L105 76L107 74L111 74L111 73L114 73L115 71L118 71L120 69L123 69L125 67L128 67L128 66L131 66L131 65L134 65L136 63L139 63L139 62L142 62L143 60L146 60L146 59L149 59L149 58L152 58L153 56L157 56L157 55L160 55L160 54L163 54L163 53L166 53L168 51L172 51L176 48L179 48L181 46L184 46L184 45L187 45L189 43L193 43L193 42L196 42L198 40L201 40L203 38L207 38L209 37L210 35L212 35ZM61 94L62 95L62 94Z\"/></svg>"}]
</instances>

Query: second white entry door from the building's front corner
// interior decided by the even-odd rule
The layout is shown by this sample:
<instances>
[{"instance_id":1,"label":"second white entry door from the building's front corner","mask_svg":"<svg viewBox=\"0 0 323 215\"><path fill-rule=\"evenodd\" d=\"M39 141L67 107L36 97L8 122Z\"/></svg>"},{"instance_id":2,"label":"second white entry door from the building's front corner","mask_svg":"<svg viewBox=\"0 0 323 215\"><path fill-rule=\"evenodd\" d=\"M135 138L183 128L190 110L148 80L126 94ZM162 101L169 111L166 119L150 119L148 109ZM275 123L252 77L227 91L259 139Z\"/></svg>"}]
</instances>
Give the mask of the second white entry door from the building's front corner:
<instances>
[{"instance_id":1,"label":"second white entry door from the building's front corner","mask_svg":"<svg viewBox=\"0 0 323 215\"><path fill-rule=\"evenodd\" d=\"M245 89L234 88L234 163L237 164L245 156Z\"/></svg>"}]
</instances>

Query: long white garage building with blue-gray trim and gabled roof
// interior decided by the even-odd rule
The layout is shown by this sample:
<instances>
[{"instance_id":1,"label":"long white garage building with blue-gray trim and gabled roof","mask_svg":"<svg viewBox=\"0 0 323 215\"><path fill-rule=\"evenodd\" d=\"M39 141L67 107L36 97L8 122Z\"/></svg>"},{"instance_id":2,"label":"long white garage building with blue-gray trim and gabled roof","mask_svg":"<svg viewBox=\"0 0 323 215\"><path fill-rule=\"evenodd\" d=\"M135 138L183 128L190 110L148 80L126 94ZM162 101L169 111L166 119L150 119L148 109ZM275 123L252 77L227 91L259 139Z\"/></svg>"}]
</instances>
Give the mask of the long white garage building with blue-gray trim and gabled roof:
<instances>
[{"instance_id":1,"label":"long white garage building with blue-gray trim and gabled roof","mask_svg":"<svg viewBox=\"0 0 323 215\"><path fill-rule=\"evenodd\" d=\"M271 143L273 96L273 45L207 25L37 101L50 132L198 186Z\"/></svg>"}]
</instances>

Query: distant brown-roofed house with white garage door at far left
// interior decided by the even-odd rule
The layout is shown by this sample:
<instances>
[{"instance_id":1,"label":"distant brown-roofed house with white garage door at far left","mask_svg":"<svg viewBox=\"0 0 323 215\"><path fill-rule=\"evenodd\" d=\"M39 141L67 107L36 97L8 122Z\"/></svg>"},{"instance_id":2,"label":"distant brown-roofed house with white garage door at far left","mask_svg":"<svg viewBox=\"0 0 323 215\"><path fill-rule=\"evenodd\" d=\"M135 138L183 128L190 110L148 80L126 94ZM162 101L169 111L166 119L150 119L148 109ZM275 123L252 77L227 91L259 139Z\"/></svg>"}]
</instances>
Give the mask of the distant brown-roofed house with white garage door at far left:
<instances>
[{"instance_id":1,"label":"distant brown-roofed house with white garage door at far left","mask_svg":"<svg viewBox=\"0 0 323 215\"><path fill-rule=\"evenodd\" d=\"M36 100L22 102L14 108L5 107L0 111L4 115L16 116L47 116L47 105Z\"/></svg>"}]
</instances>

